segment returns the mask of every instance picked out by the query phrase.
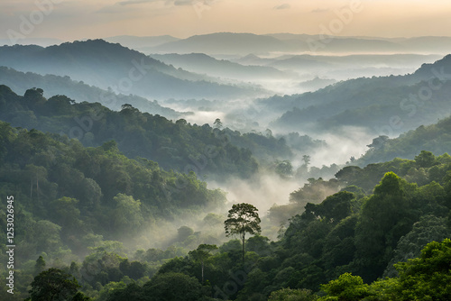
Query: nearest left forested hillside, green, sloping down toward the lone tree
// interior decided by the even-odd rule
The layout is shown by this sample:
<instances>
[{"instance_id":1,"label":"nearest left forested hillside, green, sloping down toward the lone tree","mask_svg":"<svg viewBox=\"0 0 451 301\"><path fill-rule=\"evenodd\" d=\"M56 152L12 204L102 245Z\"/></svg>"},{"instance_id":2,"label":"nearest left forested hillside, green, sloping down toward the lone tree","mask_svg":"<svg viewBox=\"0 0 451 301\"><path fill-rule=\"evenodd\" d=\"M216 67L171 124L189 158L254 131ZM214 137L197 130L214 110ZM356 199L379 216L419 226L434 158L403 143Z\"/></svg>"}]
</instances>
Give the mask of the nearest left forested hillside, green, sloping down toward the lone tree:
<instances>
[{"instance_id":1,"label":"nearest left forested hillside, green, sloping down toward the lone tree","mask_svg":"<svg viewBox=\"0 0 451 301\"><path fill-rule=\"evenodd\" d=\"M133 246L149 244L151 234L162 240L157 224L180 214L207 214L226 201L220 190L208 190L192 173L167 172L150 160L127 159L115 141L84 148L58 134L0 122L4 207L11 195L16 200L14 242L22 246L15 253L19 269L42 254L55 262L85 256L87 247L97 247L104 239L136 239Z\"/></svg>"}]
</instances>

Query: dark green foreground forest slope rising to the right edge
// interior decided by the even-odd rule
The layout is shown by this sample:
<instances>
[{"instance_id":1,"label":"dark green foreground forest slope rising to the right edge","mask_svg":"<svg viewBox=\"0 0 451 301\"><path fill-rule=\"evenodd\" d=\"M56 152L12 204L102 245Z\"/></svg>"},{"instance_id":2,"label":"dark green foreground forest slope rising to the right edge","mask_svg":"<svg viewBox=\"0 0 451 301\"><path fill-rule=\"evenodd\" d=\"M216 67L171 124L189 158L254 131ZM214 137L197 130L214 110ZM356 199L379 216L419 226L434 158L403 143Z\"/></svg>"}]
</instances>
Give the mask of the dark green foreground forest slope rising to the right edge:
<instances>
[{"instance_id":1,"label":"dark green foreground forest slope rising to the right edge","mask_svg":"<svg viewBox=\"0 0 451 301\"><path fill-rule=\"evenodd\" d=\"M448 155L423 151L415 160L343 169L342 191L305 205L280 241L249 238L244 265L237 240L203 260L199 246L167 260L145 284L124 283L100 295L108 301L130 294L151 301L449 300L450 163Z\"/></svg>"}]
</instances>

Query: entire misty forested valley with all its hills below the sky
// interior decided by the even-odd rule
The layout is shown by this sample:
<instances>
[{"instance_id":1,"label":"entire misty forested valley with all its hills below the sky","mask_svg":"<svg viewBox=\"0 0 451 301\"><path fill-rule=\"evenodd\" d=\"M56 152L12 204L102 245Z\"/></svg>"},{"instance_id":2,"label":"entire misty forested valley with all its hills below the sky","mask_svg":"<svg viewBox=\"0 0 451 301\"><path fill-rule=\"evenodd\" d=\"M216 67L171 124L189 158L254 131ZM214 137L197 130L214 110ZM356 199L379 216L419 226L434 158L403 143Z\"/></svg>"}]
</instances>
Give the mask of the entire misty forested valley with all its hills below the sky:
<instances>
[{"instance_id":1,"label":"entire misty forested valley with all its hills below the sky","mask_svg":"<svg viewBox=\"0 0 451 301\"><path fill-rule=\"evenodd\" d=\"M0 46L0 299L450 300L451 38L327 39Z\"/></svg>"}]
</instances>

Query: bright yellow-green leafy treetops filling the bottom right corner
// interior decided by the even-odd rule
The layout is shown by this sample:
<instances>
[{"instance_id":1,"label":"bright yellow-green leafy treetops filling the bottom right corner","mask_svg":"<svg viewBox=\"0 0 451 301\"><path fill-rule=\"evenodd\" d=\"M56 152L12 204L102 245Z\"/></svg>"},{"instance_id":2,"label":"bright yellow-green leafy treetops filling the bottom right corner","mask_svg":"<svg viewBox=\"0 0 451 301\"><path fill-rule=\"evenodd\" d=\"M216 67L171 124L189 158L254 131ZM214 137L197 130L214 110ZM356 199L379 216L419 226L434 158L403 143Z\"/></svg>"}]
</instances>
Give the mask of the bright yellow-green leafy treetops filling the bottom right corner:
<instances>
[{"instance_id":1,"label":"bright yellow-green leafy treetops filling the bottom right corner","mask_svg":"<svg viewBox=\"0 0 451 301\"><path fill-rule=\"evenodd\" d=\"M399 277L384 278L371 285L362 278L343 274L323 286L320 300L448 300L451 297L451 241L429 242L418 258L395 265Z\"/></svg>"}]
</instances>

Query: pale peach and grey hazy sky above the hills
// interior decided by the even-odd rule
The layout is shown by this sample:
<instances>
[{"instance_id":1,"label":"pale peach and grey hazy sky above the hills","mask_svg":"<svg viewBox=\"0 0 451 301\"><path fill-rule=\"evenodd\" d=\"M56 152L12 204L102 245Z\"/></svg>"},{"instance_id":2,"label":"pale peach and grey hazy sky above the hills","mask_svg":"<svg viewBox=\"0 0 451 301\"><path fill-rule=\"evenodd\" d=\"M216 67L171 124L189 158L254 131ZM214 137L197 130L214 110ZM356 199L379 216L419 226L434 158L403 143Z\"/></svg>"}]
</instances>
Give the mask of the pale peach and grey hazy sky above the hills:
<instances>
[{"instance_id":1,"label":"pale peach and grey hazy sky above the hills","mask_svg":"<svg viewBox=\"0 0 451 301\"><path fill-rule=\"evenodd\" d=\"M313 34L325 28L337 35L451 35L449 0L0 1L0 39L16 33L64 41L123 34ZM337 12L347 14L340 20Z\"/></svg>"}]
</instances>

